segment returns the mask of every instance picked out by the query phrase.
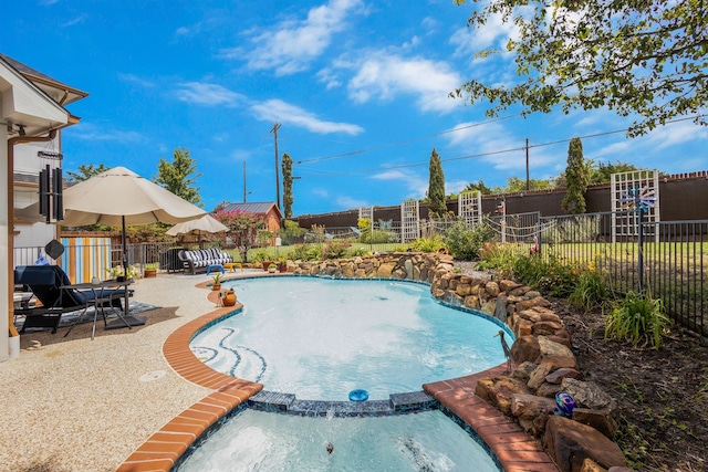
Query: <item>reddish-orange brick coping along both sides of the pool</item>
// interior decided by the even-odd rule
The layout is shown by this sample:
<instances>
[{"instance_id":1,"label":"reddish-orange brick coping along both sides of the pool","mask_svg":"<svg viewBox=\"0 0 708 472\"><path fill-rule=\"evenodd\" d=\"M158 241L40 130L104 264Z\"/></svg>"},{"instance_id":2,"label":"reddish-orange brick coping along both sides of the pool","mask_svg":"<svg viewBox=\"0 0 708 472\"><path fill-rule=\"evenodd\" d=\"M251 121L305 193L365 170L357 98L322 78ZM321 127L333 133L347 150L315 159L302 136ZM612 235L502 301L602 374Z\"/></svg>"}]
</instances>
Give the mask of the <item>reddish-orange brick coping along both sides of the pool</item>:
<instances>
[{"instance_id":1,"label":"reddish-orange brick coping along both sides of the pool","mask_svg":"<svg viewBox=\"0 0 708 472\"><path fill-rule=\"evenodd\" d=\"M210 289L208 282L196 285ZM218 304L219 292L207 298ZM215 391L184 410L137 448L117 472L167 472L214 423L262 390L261 384L212 370L189 348L194 335L242 305L219 307L180 326L163 345L163 354L183 378ZM503 374L506 364L471 376L426 384L423 389L472 428L497 454L506 472L558 472L541 445L512 419L475 395L480 378Z\"/></svg>"}]
</instances>

